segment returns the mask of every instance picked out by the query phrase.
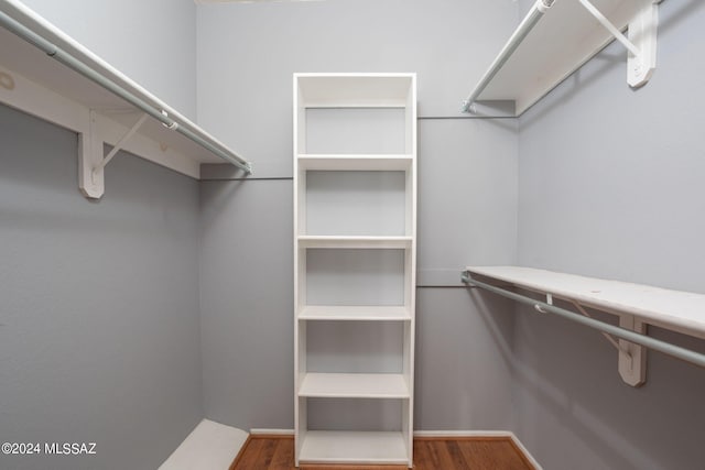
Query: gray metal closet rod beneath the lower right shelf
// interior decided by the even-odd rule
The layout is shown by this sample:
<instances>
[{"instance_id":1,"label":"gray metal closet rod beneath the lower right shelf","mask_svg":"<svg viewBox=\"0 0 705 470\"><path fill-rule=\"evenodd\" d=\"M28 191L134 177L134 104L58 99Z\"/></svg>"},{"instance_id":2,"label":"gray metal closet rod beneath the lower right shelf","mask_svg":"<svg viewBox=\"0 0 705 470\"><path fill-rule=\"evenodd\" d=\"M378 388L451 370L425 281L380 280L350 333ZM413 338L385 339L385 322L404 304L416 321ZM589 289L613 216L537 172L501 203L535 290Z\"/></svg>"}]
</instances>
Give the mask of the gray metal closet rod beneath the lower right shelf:
<instances>
[{"instance_id":1,"label":"gray metal closet rod beneath the lower right shelf","mask_svg":"<svg viewBox=\"0 0 705 470\"><path fill-rule=\"evenodd\" d=\"M682 359L687 362L692 362L701 368L705 368L705 354L702 354L697 351L692 351L690 349L681 348L680 346L671 345L670 342L661 341L655 338L651 338L650 336L639 335L638 332L620 328L614 325L609 325L594 318L584 317L583 315L576 314L571 310L566 310L565 308L556 307L551 304L546 304L545 302L539 302L536 299L496 287L490 284L486 284L484 282L477 281L473 278L468 271L464 271L460 280L469 285L474 285L491 293L501 295L502 297L511 298L512 300L519 302L521 304L530 305L536 310L541 313L550 313L557 315L560 317L566 318L572 321L576 321L578 324L585 325L587 327L608 332L618 338L625 339L627 341L631 341L637 345L646 346L649 349L653 349L654 351L663 352L664 354L672 356L677 359Z\"/></svg>"}]
</instances>

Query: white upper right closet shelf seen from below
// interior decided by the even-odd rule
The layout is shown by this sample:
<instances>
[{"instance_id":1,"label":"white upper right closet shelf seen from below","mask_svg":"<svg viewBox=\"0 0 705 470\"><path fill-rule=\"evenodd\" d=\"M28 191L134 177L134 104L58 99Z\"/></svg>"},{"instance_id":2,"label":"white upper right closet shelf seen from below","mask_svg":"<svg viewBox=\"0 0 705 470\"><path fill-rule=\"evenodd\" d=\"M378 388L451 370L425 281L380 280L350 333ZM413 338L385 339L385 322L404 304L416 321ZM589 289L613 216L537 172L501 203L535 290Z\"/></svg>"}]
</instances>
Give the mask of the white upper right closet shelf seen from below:
<instances>
[{"instance_id":1,"label":"white upper right closet shelf seen from below","mask_svg":"<svg viewBox=\"0 0 705 470\"><path fill-rule=\"evenodd\" d=\"M630 22L638 23L638 15L654 3L652 0L590 2L619 31ZM520 116L614 39L579 0L539 0L481 77L466 106L513 101L514 116ZM641 47L646 50L650 45ZM653 57L655 61L655 53Z\"/></svg>"}]
</instances>

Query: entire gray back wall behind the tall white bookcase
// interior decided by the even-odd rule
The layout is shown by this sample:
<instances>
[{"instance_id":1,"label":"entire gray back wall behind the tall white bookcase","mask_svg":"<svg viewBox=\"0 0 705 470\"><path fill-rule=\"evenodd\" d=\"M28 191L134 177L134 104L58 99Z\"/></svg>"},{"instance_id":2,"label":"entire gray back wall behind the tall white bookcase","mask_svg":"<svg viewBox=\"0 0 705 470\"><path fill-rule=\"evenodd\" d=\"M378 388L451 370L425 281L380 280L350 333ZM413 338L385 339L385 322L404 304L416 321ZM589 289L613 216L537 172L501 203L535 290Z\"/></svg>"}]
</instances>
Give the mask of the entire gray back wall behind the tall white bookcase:
<instances>
[{"instance_id":1,"label":"entire gray back wall behind the tall white bookcase","mask_svg":"<svg viewBox=\"0 0 705 470\"><path fill-rule=\"evenodd\" d=\"M202 184L207 417L293 427L292 74L416 72L420 114L457 118L516 20L492 0L198 7L199 122L283 178ZM419 162L415 427L508 429L512 307L440 286L516 262L517 122L423 119Z\"/></svg>"}]
</instances>

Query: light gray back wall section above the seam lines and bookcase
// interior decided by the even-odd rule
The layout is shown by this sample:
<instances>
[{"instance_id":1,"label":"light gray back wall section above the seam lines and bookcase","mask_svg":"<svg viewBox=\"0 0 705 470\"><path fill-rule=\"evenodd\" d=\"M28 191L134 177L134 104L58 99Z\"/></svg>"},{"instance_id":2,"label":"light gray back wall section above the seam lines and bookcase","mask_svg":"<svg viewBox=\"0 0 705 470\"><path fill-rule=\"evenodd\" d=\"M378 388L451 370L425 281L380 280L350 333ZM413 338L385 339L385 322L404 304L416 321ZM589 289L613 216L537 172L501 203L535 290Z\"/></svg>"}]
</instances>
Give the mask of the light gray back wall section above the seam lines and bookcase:
<instances>
[{"instance_id":1,"label":"light gray back wall section above the seam lines and bookcase","mask_svg":"<svg viewBox=\"0 0 705 470\"><path fill-rule=\"evenodd\" d=\"M198 6L197 17L198 122L262 177L291 176L293 73L414 72L419 116L459 117L516 26L517 4L238 2Z\"/></svg>"}]
</instances>

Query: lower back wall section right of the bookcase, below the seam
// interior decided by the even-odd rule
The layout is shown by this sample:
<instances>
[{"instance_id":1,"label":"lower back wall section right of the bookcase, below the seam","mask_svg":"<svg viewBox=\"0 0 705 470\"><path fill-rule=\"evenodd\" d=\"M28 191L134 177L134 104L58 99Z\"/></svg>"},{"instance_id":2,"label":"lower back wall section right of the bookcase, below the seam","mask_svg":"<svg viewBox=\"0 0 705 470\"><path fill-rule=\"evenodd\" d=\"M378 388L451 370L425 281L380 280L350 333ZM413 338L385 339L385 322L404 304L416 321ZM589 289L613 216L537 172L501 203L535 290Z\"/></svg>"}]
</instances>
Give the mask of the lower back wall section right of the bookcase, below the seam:
<instances>
[{"instance_id":1,"label":"lower back wall section right of the bookcase, below the seam","mask_svg":"<svg viewBox=\"0 0 705 470\"><path fill-rule=\"evenodd\" d=\"M465 288L416 291L415 428L510 430L511 303Z\"/></svg>"}]
</instances>

